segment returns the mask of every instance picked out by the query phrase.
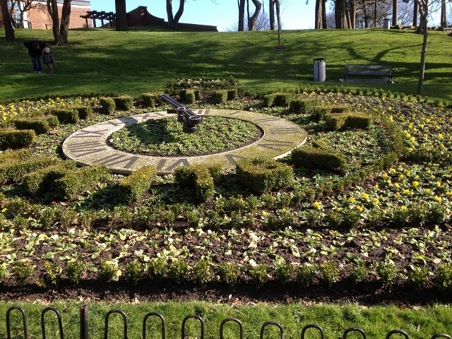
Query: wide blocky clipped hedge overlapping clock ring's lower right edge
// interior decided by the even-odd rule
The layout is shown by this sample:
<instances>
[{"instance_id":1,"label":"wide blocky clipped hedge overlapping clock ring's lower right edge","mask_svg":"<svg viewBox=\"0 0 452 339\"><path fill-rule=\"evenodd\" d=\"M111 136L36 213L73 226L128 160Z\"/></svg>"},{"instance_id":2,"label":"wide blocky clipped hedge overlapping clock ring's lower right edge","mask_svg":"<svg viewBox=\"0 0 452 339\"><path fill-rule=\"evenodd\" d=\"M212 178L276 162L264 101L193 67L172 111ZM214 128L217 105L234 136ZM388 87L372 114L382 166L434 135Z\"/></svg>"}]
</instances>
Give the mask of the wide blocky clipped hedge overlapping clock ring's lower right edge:
<instances>
[{"instance_id":1,"label":"wide blocky clipped hedge overlapping clock ring's lower right edge","mask_svg":"<svg viewBox=\"0 0 452 339\"><path fill-rule=\"evenodd\" d=\"M265 157L237 160L236 173L239 182L256 194L290 186L293 181L292 167Z\"/></svg>"}]
</instances>

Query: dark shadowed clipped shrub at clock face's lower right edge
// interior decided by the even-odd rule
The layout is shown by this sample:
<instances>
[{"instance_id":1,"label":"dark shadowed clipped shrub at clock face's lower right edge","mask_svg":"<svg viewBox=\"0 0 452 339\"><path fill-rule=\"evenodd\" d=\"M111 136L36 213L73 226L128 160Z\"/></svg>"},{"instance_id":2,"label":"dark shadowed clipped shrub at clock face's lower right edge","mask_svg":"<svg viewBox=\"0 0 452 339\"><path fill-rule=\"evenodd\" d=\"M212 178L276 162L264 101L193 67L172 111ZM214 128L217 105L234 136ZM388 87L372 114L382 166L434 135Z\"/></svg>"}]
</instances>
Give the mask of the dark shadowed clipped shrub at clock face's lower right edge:
<instances>
[{"instance_id":1,"label":"dark shadowed clipped shrub at clock face's lower right edge","mask_svg":"<svg viewBox=\"0 0 452 339\"><path fill-rule=\"evenodd\" d=\"M347 166L343 154L328 149L302 146L292 150L291 162L296 167L342 172Z\"/></svg>"}]
</instances>

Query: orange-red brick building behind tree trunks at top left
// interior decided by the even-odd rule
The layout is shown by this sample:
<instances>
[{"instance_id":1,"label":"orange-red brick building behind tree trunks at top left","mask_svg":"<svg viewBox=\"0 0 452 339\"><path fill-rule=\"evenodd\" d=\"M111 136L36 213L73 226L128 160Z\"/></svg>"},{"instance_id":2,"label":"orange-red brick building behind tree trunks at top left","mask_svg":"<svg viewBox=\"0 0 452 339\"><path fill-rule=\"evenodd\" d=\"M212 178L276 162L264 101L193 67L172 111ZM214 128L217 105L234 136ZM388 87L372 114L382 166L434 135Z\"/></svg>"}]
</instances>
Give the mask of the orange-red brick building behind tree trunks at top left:
<instances>
[{"instance_id":1,"label":"orange-red brick building behind tree trunks at top left","mask_svg":"<svg viewBox=\"0 0 452 339\"><path fill-rule=\"evenodd\" d=\"M26 0L28 1L28 0ZM24 1L25 2L25 1ZM63 0L57 0L59 17L61 18L61 8L63 7ZM47 11L47 1L32 1L32 8L24 13L23 28L32 28L34 30L51 30L52 18ZM69 28L83 28L92 27L91 20L81 18L86 12L91 10L90 1L72 0L71 1L71 21ZM0 12L0 27L3 26L3 19Z\"/></svg>"}]
</instances>

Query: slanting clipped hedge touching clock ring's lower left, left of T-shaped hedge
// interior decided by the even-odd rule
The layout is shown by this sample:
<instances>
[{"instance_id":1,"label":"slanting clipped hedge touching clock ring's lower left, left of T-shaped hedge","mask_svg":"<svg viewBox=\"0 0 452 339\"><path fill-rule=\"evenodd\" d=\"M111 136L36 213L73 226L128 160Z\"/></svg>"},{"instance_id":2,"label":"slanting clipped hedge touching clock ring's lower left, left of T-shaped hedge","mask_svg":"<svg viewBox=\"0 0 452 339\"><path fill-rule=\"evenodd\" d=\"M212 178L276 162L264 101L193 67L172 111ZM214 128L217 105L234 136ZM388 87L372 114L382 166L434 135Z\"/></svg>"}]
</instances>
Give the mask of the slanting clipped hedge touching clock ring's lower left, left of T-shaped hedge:
<instances>
[{"instance_id":1,"label":"slanting clipped hedge touching clock ring's lower left, left of T-shaped hedge","mask_svg":"<svg viewBox=\"0 0 452 339\"><path fill-rule=\"evenodd\" d=\"M155 182L157 169L154 166L145 166L125 177L119 183L119 199L124 203L133 203L149 189Z\"/></svg>"}]
</instances>

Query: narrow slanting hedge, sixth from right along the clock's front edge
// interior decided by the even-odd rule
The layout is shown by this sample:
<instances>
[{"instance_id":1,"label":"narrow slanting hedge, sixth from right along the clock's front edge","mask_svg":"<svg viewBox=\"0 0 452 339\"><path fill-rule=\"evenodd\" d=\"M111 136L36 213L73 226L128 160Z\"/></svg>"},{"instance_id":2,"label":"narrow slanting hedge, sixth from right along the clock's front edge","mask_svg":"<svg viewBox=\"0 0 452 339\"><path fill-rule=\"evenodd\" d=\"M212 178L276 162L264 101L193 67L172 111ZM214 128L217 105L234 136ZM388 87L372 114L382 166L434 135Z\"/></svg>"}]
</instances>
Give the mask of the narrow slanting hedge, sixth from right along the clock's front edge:
<instances>
[{"instance_id":1,"label":"narrow slanting hedge, sixth from right along the clock's front edge","mask_svg":"<svg viewBox=\"0 0 452 339\"><path fill-rule=\"evenodd\" d=\"M77 163L73 160L61 161L55 165L25 174L22 184L25 191L32 196L45 194L53 190L55 180L64 177L65 174L76 168Z\"/></svg>"}]
</instances>

